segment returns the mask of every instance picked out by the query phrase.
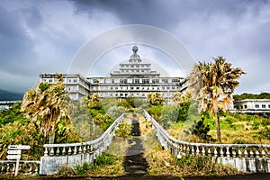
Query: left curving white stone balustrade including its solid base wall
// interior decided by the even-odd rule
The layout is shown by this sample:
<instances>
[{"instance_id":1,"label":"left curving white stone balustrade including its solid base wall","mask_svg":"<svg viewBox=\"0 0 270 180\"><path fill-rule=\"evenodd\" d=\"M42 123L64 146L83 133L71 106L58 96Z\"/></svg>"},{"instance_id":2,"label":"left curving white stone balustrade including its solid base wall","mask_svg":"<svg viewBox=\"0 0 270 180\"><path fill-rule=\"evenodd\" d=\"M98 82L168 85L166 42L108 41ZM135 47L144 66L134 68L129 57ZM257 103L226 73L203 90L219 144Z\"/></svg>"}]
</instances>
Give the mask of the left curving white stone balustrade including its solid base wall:
<instances>
[{"instance_id":1,"label":"left curving white stone balustrade including its solid base wall","mask_svg":"<svg viewBox=\"0 0 270 180\"><path fill-rule=\"evenodd\" d=\"M70 144L45 144L44 156L40 159L40 175L52 175L60 166L77 166L93 162L111 143L114 132L124 114L113 121L102 136L88 142Z\"/></svg>"}]
</instances>

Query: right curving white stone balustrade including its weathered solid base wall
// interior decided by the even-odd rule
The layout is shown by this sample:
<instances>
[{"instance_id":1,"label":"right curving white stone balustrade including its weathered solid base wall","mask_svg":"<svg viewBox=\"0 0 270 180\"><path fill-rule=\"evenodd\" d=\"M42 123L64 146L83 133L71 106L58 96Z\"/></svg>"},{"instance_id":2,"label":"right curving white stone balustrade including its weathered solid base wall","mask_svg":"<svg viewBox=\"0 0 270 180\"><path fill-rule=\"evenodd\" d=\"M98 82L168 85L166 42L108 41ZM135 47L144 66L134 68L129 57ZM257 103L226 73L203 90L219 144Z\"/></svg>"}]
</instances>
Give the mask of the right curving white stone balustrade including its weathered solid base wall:
<instances>
[{"instance_id":1,"label":"right curving white stone balustrade including its weathered solid base wall","mask_svg":"<svg viewBox=\"0 0 270 180\"><path fill-rule=\"evenodd\" d=\"M224 165L236 166L239 171L270 172L270 145L264 144L208 144L194 143L171 137L148 112L145 118L157 131L163 148L178 158L185 154L216 157Z\"/></svg>"}]
</instances>

